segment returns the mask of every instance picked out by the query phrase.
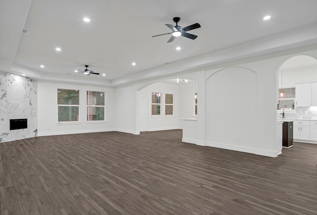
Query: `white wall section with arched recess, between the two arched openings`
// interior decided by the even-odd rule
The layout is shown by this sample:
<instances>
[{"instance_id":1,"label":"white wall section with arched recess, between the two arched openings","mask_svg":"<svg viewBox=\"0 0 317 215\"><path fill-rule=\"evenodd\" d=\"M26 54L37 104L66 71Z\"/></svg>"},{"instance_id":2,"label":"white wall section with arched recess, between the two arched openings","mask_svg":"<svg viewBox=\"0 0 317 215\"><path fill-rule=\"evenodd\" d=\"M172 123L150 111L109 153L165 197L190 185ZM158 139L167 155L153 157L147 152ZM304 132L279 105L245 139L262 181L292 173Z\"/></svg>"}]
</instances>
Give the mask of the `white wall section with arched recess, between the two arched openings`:
<instances>
[{"instance_id":1,"label":"white wall section with arched recess, between the two arched openings","mask_svg":"<svg viewBox=\"0 0 317 215\"><path fill-rule=\"evenodd\" d=\"M286 58L186 74L197 81L196 144L276 157L276 71Z\"/></svg>"}]
</instances>

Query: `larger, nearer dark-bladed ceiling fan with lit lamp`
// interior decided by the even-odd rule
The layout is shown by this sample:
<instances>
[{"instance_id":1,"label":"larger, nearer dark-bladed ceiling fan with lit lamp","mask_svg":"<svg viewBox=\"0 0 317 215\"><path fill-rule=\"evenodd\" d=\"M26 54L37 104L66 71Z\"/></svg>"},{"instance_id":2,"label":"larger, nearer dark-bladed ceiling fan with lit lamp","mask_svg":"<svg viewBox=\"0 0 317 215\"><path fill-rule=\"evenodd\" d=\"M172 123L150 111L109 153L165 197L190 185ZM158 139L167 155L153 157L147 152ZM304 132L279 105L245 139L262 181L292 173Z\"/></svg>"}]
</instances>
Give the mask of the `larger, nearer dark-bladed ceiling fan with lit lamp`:
<instances>
[{"instance_id":1,"label":"larger, nearer dark-bladed ceiling fan with lit lamp","mask_svg":"<svg viewBox=\"0 0 317 215\"><path fill-rule=\"evenodd\" d=\"M174 17L173 21L176 23L175 26L173 26L171 24L165 24L167 27L169 27L172 30L172 32L170 32L170 33L165 33L165 34L172 34L171 38L169 38L167 43L173 42L175 37L179 37L179 36L187 37L187 38L192 39L192 40L195 40L197 38L196 35L189 34L186 31L190 31L190 30L193 30L193 29L196 29L196 28L200 28L201 26L200 26L199 23L195 23L195 24L189 25L187 27L181 28L180 26L177 25L177 23L180 21L179 17ZM152 36L152 37L158 37L158 36L162 36L162 35L165 35L165 34L159 34L159 35L155 35L155 36Z\"/></svg>"}]
</instances>

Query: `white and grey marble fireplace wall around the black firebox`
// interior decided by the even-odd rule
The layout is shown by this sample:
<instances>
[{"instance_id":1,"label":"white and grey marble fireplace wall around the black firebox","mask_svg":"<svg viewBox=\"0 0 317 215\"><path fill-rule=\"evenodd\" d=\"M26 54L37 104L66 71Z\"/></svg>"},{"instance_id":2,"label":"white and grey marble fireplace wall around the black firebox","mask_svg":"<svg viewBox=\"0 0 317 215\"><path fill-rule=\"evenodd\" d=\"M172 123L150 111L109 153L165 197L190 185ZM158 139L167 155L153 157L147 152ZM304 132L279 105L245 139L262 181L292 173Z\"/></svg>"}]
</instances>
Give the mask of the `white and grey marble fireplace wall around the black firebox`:
<instances>
[{"instance_id":1,"label":"white and grey marble fireplace wall around the black firebox","mask_svg":"<svg viewBox=\"0 0 317 215\"><path fill-rule=\"evenodd\" d=\"M10 130L10 119L27 128ZM37 80L0 71L0 143L37 136Z\"/></svg>"}]
</instances>

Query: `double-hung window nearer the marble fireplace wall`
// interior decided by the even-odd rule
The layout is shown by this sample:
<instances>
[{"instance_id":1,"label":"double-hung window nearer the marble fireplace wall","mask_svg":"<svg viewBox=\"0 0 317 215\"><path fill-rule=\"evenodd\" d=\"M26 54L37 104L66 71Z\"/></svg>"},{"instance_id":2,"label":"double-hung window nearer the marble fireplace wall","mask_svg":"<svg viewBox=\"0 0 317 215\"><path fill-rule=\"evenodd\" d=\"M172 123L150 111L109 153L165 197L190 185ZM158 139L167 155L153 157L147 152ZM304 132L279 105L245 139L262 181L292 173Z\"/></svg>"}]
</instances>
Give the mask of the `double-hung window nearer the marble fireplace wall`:
<instances>
[{"instance_id":1,"label":"double-hung window nearer the marble fireplace wall","mask_svg":"<svg viewBox=\"0 0 317 215\"><path fill-rule=\"evenodd\" d=\"M58 122L79 121L79 90L57 89Z\"/></svg>"}]
</instances>

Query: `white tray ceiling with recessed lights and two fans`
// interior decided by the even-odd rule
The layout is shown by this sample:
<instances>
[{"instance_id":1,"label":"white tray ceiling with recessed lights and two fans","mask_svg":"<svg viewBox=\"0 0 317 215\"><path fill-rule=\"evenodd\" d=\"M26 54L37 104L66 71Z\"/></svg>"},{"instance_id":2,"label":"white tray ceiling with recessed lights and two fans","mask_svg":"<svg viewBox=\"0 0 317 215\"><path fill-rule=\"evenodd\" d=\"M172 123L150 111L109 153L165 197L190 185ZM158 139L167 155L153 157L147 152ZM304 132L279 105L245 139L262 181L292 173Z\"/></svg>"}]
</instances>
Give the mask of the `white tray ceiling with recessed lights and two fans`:
<instances>
[{"instance_id":1,"label":"white tray ceiling with recessed lights and two fans","mask_svg":"<svg viewBox=\"0 0 317 215\"><path fill-rule=\"evenodd\" d=\"M118 86L317 49L317 0L7 0L0 8L7 20L0 24L0 69L38 79ZM271 19L264 21L265 15ZM201 24L188 32L196 40L152 38L170 32L165 24L174 25L175 16L182 27ZM106 76L74 74L85 64Z\"/></svg>"}]
</instances>

